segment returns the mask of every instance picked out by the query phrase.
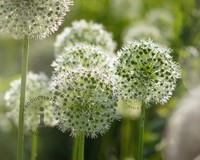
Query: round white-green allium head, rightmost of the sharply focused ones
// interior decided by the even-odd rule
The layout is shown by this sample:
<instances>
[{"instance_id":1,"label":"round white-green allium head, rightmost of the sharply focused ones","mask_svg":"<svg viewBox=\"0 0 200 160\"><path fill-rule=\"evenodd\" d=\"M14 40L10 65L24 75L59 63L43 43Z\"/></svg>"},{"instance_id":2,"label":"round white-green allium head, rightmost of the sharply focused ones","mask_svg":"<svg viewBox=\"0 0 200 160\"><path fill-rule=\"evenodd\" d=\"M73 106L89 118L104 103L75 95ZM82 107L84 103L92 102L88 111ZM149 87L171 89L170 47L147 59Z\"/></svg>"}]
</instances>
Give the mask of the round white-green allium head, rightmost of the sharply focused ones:
<instances>
[{"instance_id":1,"label":"round white-green allium head, rightmost of the sharply focused ones","mask_svg":"<svg viewBox=\"0 0 200 160\"><path fill-rule=\"evenodd\" d=\"M126 101L164 104L180 78L180 66L171 50L151 40L132 41L118 51L116 74L121 77L120 97Z\"/></svg>"}]
</instances>

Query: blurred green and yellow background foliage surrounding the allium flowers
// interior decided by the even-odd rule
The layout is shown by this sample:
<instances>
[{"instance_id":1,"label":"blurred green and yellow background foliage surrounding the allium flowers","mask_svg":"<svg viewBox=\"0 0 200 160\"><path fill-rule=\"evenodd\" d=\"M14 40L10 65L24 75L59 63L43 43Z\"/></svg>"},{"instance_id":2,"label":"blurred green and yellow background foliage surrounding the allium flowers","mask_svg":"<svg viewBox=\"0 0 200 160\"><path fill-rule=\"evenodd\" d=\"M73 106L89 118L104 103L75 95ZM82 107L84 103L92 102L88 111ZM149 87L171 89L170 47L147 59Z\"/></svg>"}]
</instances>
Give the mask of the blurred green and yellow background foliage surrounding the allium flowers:
<instances>
[{"instance_id":1,"label":"blurred green and yellow background foliage surrounding the allium flowers","mask_svg":"<svg viewBox=\"0 0 200 160\"><path fill-rule=\"evenodd\" d=\"M51 76L56 35L72 21L86 19L102 23L113 33L120 49L130 38L152 38L168 45L182 67L182 80L173 98L165 106L147 110L144 159L162 160L162 137L170 115L180 99L200 83L200 1L199 0L74 0L64 24L45 40L32 40L29 70ZM22 41L0 34L0 159L14 160L17 128L6 117L4 93L9 83L18 78L21 66ZM121 110L127 104L119 104ZM130 105L130 104L129 104ZM132 104L131 104L132 105ZM134 104L135 105L135 104ZM133 114L122 111L122 120L97 139L86 139L86 160L134 160L138 144L138 107ZM69 160L73 139L68 133L49 128L51 134L39 137L38 160ZM25 137L25 160L29 159L31 137Z\"/></svg>"}]
</instances>

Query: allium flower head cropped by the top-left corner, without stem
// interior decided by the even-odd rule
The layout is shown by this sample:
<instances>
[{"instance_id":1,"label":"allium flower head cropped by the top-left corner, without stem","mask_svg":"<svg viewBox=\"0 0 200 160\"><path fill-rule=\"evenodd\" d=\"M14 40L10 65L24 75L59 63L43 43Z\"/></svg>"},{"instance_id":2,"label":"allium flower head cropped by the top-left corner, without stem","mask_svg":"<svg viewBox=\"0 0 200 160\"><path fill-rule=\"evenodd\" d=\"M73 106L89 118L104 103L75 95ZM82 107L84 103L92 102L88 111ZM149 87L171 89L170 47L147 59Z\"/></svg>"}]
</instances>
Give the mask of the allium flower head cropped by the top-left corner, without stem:
<instances>
[{"instance_id":1,"label":"allium flower head cropped by the top-left corner, without stem","mask_svg":"<svg viewBox=\"0 0 200 160\"><path fill-rule=\"evenodd\" d=\"M72 0L0 0L0 31L43 39L61 25Z\"/></svg>"}]
</instances>

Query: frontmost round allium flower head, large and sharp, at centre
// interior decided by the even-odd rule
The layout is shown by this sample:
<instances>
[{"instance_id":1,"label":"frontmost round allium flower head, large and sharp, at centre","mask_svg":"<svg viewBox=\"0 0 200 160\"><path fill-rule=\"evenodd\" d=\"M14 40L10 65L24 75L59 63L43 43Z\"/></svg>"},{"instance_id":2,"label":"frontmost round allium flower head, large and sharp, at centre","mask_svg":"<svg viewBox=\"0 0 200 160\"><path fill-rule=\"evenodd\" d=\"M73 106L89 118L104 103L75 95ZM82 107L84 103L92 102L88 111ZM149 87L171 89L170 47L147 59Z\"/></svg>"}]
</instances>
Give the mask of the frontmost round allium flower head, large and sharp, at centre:
<instances>
[{"instance_id":1,"label":"frontmost round allium flower head, large and sharp, at centre","mask_svg":"<svg viewBox=\"0 0 200 160\"><path fill-rule=\"evenodd\" d=\"M54 116L61 131L95 138L118 119L115 80L106 70L77 68L52 79Z\"/></svg>"}]
</instances>

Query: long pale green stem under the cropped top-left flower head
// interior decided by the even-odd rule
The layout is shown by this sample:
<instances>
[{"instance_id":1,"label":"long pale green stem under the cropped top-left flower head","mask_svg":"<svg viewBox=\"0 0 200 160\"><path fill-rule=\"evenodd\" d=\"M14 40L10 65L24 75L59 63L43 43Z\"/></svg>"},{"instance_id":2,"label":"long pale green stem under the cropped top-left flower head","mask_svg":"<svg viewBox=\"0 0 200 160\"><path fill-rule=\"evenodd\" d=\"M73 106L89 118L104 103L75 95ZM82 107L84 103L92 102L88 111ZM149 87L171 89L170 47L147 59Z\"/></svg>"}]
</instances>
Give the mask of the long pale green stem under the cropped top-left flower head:
<instances>
[{"instance_id":1,"label":"long pale green stem under the cropped top-left flower head","mask_svg":"<svg viewBox=\"0 0 200 160\"><path fill-rule=\"evenodd\" d=\"M25 92L26 92L26 74L27 74L27 70L28 70L28 54L29 54L29 38L28 38L28 36L25 36L23 51L22 51L17 160L23 160L24 104L25 104Z\"/></svg>"}]
</instances>

